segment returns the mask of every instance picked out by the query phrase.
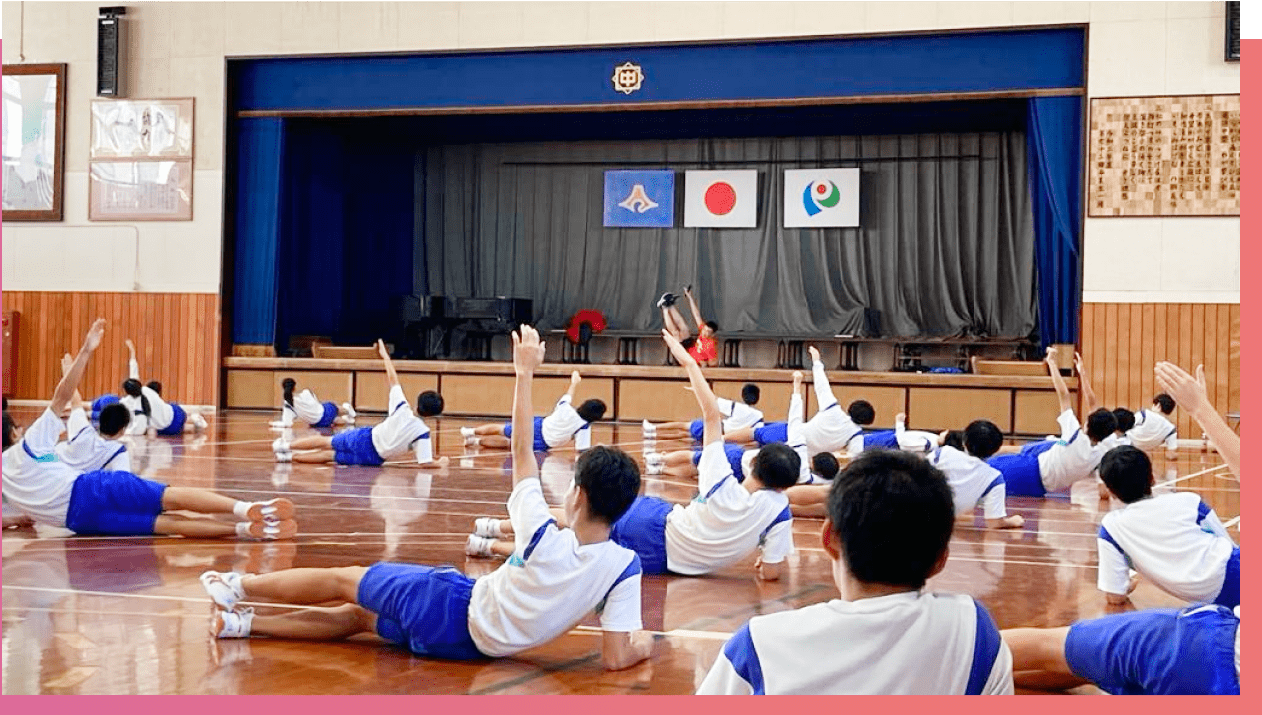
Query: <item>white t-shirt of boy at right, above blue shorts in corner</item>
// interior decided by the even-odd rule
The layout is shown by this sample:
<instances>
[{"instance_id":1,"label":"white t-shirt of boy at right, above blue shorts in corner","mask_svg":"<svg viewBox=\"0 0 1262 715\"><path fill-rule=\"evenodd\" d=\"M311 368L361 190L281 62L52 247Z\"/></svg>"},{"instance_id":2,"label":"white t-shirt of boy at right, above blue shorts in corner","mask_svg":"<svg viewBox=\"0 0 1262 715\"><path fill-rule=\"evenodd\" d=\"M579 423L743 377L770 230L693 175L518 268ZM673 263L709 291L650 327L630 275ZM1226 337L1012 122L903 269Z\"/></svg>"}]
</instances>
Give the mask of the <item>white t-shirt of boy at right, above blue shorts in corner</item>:
<instances>
[{"instance_id":1,"label":"white t-shirt of boy at right, above blue shorts in corner","mask_svg":"<svg viewBox=\"0 0 1262 715\"><path fill-rule=\"evenodd\" d=\"M1124 595L1129 569L1189 602L1212 602L1223 590L1235 544L1214 509L1193 492L1157 494L1100 520L1095 585Z\"/></svg>"}]
</instances>

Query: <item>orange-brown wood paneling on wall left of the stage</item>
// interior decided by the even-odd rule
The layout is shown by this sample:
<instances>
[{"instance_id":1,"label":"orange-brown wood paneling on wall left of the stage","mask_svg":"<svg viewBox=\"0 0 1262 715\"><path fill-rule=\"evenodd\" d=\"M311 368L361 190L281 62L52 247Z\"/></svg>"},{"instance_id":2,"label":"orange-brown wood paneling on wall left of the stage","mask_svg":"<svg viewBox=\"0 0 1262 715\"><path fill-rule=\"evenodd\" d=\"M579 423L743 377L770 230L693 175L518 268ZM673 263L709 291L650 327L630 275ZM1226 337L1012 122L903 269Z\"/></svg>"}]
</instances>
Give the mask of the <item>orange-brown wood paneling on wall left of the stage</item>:
<instances>
[{"instance_id":1,"label":"orange-brown wood paneling on wall left of the stage","mask_svg":"<svg viewBox=\"0 0 1262 715\"><path fill-rule=\"evenodd\" d=\"M85 398L120 391L127 377L122 340L131 338L141 380L162 382L164 397L189 405L218 402L218 295L6 290L4 310L21 314L15 398L52 397L62 354L74 353L92 320L105 318L105 343L80 387Z\"/></svg>"}]
</instances>

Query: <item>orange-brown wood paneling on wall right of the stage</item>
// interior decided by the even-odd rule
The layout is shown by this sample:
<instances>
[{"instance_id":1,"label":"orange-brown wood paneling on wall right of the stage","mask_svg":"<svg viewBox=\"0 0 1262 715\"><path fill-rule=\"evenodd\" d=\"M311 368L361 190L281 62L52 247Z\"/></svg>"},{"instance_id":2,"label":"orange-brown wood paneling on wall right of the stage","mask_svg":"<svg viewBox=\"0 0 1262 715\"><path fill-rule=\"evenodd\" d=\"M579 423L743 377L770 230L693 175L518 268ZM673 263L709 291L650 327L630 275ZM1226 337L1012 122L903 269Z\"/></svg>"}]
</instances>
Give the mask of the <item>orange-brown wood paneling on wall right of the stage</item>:
<instances>
[{"instance_id":1,"label":"orange-brown wood paneling on wall right of the stage","mask_svg":"<svg viewBox=\"0 0 1262 715\"><path fill-rule=\"evenodd\" d=\"M1083 359L1100 402L1147 407L1160 392L1157 361L1194 372L1205 366L1209 397L1219 414L1241 409L1241 306L1190 303L1087 303L1083 305ZM1199 439L1182 410L1175 412L1180 439Z\"/></svg>"}]
</instances>

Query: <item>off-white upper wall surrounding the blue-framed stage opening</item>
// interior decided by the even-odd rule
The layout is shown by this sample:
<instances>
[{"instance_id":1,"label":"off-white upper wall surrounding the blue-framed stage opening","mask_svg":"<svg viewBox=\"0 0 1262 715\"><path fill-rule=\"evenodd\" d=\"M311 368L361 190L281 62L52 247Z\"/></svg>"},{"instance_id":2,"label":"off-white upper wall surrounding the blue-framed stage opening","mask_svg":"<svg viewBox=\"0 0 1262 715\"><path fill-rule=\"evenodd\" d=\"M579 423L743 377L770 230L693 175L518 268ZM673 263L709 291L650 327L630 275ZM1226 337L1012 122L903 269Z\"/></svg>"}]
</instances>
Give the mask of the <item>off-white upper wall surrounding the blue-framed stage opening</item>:
<instances>
[{"instance_id":1,"label":"off-white upper wall surrounding the blue-framed stage opening","mask_svg":"<svg viewBox=\"0 0 1262 715\"><path fill-rule=\"evenodd\" d=\"M88 103L97 3L3 3L4 62L69 63L67 243L117 246L88 224ZM217 293L222 240L225 57L651 43L976 26L1090 23L1093 97L1238 93L1223 62L1224 3L129 3L129 96L196 97L192 222L139 223L135 275L111 285ZM25 18L23 18L25 14ZM20 37L19 37L20 34ZM10 224L4 288L98 285L93 262L50 264L28 250L39 228ZM1239 300L1239 219L1087 219L1088 301ZM111 248L112 250L112 248ZM134 257L112 260L120 264ZM1124 260L1119 260L1124 259ZM122 288L119 288L122 290ZM92 289L97 290L97 289Z\"/></svg>"}]
</instances>

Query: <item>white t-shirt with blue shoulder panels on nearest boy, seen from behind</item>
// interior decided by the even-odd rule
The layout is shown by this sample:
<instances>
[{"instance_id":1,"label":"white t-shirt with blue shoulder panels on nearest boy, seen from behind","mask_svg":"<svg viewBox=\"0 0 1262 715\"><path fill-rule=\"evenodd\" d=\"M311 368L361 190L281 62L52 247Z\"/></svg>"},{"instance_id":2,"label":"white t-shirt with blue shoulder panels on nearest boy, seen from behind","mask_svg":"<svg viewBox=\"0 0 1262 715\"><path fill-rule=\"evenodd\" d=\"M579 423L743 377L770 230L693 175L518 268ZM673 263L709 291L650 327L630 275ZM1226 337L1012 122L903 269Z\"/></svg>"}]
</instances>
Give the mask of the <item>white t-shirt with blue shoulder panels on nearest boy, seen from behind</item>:
<instances>
[{"instance_id":1,"label":"white t-shirt with blue shoulder panels on nearest boy, seen from behind","mask_svg":"<svg viewBox=\"0 0 1262 715\"><path fill-rule=\"evenodd\" d=\"M965 595L900 593L757 615L698 695L1012 695L1012 653Z\"/></svg>"}]
</instances>

